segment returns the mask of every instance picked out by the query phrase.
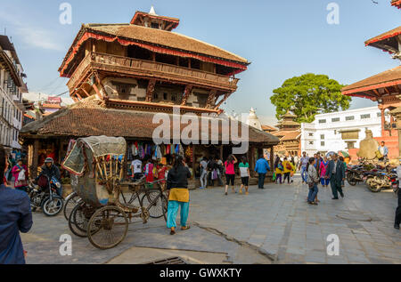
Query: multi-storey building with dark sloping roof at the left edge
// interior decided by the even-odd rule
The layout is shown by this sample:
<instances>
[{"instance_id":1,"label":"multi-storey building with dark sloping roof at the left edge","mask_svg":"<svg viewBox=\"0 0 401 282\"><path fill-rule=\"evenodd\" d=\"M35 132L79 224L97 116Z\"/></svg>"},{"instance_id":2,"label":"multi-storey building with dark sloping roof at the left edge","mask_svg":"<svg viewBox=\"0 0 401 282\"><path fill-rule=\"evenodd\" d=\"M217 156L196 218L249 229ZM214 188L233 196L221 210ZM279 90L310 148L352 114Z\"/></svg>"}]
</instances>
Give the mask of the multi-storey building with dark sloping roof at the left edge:
<instances>
[{"instance_id":1,"label":"multi-storey building with dark sloping roof at the left edge","mask_svg":"<svg viewBox=\"0 0 401 282\"><path fill-rule=\"evenodd\" d=\"M20 60L7 36L0 36L0 144L20 149L18 141L23 120L22 92L26 85Z\"/></svg>"}]
</instances>

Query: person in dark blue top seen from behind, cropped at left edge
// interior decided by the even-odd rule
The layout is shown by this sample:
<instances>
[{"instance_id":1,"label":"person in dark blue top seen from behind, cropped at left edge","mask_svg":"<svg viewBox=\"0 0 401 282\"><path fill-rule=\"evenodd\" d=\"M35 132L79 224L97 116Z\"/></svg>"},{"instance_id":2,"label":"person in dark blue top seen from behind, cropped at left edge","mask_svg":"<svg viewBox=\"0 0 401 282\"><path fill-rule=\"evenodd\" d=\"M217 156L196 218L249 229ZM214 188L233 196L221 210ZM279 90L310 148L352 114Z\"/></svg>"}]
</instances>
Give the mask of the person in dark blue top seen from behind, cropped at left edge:
<instances>
[{"instance_id":1,"label":"person in dark blue top seen from behind, cropped at left edge","mask_svg":"<svg viewBox=\"0 0 401 282\"><path fill-rule=\"evenodd\" d=\"M24 264L20 232L32 227L30 202L27 193L4 185L5 161L0 145L0 264Z\"/></svg>"}]
</instances>

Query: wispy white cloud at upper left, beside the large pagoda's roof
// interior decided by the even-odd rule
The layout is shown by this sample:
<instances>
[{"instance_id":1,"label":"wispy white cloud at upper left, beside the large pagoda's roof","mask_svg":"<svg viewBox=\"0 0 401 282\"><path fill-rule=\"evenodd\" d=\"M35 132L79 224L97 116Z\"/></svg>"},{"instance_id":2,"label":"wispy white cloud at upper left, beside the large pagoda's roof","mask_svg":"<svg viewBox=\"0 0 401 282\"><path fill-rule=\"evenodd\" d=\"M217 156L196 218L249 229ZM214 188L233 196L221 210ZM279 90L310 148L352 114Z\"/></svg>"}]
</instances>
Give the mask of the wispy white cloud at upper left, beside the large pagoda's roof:
<instances>
[{"instance_id":1,"label":"wispy white cloud at upper left, beside the large pagoda's roof","mask_svg":"<svg viewBox=\"0 0 401 282\"><path fill-rule=\"evenodd\" d=\"M44 28L35 27L29 22L20 22L20 17L0 11L0 20L5 25L13 27L13 32L20 40L29 47L40 48L45 50L61 51L63 50L61 44L58 44L54 39L51 31Z\"/></svg>"}]
</instances>

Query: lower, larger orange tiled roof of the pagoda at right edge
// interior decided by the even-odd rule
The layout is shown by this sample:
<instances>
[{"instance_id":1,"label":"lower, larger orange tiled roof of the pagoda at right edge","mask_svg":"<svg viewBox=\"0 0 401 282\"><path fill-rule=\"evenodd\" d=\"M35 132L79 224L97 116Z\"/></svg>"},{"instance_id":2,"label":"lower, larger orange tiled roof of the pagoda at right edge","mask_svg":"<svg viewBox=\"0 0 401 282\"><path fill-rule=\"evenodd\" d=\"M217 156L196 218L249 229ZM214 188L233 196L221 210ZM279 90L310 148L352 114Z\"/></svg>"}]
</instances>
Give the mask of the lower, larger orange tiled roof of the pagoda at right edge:
<instances>
[{"instance_id":1,"label":"lower, larger orange tiled roof of the pagoda at right edge","mask_svg":"<svg viewBox=\"0 0 401 282\"><path fill-rule=\"evenodd\" d=\"M360 96L372 99L372 96L368 96L364 94L364 92L394 85L401 85L401 66L397 68L391 68L378 75L368 77L364 80L356 82L353 85L348 85L341 91L344 95Z\"/></svg>"}]
</instances>

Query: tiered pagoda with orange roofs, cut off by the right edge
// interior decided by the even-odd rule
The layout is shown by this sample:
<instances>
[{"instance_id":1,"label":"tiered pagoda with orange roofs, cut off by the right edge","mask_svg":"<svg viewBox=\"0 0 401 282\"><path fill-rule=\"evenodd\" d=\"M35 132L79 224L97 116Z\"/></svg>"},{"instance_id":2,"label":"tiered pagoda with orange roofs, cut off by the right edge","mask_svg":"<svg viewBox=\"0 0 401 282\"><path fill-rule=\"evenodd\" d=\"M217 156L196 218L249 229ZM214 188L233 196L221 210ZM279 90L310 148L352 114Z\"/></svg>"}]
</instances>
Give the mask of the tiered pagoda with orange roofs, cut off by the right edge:
<instances>
[{"instance_id":1,"label":"tiered pagoda with orange roofs, cut off by the right edge","mask_svg":"<svg viewBox=\"0 0 401 282\"><path fill-rule=\"evenodd\" d=\"M391 1L393 6L401 7L400 0ZM401 26L391 29L380 36L375 36L364 43L389 52L395 60L401 60ZM368 77L364 80L348 85L342 89L344 95L366 98L377 101L381 109L381 137L377 141L385 141L389 148L389 157L398 157L398 131L394 117L386 122L386 115L389 111L401 106L401 66L391 68L378 75Z\"/></svg>"}]
</instances>

